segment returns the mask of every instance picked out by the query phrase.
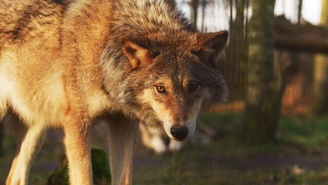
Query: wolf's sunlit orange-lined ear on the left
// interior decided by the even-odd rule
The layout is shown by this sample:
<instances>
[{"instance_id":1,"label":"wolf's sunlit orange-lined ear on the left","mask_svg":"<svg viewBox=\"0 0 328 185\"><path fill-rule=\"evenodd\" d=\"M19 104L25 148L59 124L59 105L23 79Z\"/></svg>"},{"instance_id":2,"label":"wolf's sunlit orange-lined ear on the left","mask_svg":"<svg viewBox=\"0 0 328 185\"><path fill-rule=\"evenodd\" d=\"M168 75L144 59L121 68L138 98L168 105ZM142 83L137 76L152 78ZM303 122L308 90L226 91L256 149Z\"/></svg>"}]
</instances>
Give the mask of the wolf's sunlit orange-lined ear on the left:
<instances>
[{"instance_id":1,"label":"wolf's sunlit orange-lined ear on the left","mask_svg":"<svg viewBox=\"0 0 328 185\"><path fill-rule=\"evenodd\" d=\"M121 46L132 68L147 65L158 55L157 52L151 50L147 38L122 38Z\"/></svg>"}]
</instances>

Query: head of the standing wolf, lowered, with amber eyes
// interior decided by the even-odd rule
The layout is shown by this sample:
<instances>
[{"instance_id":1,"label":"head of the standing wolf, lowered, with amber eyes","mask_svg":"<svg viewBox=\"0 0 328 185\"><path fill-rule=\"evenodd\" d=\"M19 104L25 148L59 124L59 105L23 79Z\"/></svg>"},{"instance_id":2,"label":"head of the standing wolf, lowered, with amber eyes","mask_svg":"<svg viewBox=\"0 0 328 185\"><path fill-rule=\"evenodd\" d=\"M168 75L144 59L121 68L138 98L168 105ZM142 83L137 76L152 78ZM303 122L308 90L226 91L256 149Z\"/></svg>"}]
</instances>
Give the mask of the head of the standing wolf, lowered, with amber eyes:
<instances>
[{"instance_id":1,"label":"head of the standing wolf, lowered, with amber eyes","mask_svg":"<svg viewBox=\"0 0 328 185\"><path fill-rule=\"evenodd\" d=\"M130 71L120 87L121 101L137 107L141 121L151 117L161 122L170 138L187 139L200 109L226 99L215 60L227 37L227 31L123 37Z\"/></svg>"}]
</instances>

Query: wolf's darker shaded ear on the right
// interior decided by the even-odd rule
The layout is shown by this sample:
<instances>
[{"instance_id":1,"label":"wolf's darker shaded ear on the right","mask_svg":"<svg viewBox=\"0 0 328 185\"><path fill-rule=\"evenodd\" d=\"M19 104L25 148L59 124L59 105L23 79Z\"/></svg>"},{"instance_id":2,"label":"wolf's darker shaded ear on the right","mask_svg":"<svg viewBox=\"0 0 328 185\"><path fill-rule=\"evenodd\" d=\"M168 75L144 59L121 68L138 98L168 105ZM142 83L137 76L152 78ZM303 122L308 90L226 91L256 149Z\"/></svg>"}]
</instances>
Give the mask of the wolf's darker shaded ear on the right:
<instances>
[{"instance_id":1,"label":"wolf's darker shaded ear on the right","mask_svg":"<svg viewBox=\"0 0 328 185\"><path fill-rule=\"evenodd\" d=\"M215 66L220 52L228 40L228 31L223 30L216 33L204 33L198 36L199 50L195 52L202 62Z\"/></svg>"}]
</instances>

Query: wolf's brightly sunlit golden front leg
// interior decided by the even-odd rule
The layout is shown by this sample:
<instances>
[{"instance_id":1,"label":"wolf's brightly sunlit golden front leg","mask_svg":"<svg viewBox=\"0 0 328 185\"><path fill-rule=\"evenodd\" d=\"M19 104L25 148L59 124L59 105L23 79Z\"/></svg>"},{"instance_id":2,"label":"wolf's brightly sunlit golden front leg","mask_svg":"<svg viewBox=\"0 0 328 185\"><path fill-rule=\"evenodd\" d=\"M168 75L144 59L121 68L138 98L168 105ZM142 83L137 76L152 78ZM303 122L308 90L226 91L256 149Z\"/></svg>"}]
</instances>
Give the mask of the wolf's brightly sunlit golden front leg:
<instances>
[{"instance_id":1,"label":"wolf's brightly sunlit golden front leg","mask_svg":"<svg viewBox=\"0 0 328 185\"><path fill-rule=\"evenodd\" d=\"M92 184L91 127L80 121L72 121L64 125L64 133L70 184Z\"/></svg>"}]
</instances>

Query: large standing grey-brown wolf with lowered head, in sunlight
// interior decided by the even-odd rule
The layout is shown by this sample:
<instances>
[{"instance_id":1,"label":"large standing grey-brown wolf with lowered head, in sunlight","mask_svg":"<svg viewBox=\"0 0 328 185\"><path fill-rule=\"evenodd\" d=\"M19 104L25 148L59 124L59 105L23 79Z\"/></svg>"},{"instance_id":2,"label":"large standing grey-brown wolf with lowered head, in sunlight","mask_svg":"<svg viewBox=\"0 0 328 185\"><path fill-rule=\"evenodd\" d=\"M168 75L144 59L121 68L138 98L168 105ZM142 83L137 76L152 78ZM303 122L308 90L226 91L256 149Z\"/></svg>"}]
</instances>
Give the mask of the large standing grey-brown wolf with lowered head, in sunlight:
<instances>
[{"instance_id":1,"label":"large standing grey-brown wolf with lowered head, in sunlight","mask_svg":"<svg viewBox=\"0 0 328 185\"><path fill-rule=\"evenodd\" d=\"M50 127L65 133L70 184L92 184L103 118L112 184L130 184L139 122L185 140L199 110L225 100L215 60L227 37L200 33L170 0L0 0L0 120L21 122L6 184L27 184Z\"/></svg>"}]
</instances>

